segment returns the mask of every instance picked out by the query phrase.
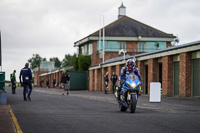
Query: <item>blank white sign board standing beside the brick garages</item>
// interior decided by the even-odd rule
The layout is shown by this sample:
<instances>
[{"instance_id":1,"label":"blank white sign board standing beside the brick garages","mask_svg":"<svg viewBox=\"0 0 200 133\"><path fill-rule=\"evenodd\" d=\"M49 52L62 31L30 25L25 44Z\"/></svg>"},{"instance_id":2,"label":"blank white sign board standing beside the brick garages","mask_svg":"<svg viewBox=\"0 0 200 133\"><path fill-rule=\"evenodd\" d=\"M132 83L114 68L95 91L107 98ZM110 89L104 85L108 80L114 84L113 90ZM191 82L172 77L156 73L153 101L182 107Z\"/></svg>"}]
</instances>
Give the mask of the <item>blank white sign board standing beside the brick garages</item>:
<instances>
[{"instance_id":1,"label":"blank white sign board standing beside the brick garages","mask_svg":"<svg viewBox=\"0 0 200 133\"><path fill-rule=\"evenodd\" d=\"M150 97L149 102L161 102L161 83L150 83Z\"/></svg>"}]
</instances>

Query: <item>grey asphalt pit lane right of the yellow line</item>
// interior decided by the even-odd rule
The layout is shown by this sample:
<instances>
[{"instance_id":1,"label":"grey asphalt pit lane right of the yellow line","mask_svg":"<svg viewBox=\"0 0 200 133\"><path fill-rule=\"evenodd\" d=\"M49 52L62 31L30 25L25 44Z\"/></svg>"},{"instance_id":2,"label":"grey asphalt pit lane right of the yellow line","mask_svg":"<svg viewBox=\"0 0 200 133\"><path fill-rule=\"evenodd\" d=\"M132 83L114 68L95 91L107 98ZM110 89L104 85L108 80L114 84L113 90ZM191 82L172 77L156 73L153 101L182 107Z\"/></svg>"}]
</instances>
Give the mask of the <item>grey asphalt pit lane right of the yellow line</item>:
<instances>
[{"instance_id":1,"label":"grey asphalt pit lane right of the yellow line","mask_svg":"<svg viewBox=\"0 0 200 133\"><path fill-rule=\"evenodd\" d=\"M139 97L134 114L120 112L112 94L34 88L23 101L22 88L8 92L8 104L24 133L199 133L200 99L162 97L149 103Z\"/></svg>"}]
</instances>

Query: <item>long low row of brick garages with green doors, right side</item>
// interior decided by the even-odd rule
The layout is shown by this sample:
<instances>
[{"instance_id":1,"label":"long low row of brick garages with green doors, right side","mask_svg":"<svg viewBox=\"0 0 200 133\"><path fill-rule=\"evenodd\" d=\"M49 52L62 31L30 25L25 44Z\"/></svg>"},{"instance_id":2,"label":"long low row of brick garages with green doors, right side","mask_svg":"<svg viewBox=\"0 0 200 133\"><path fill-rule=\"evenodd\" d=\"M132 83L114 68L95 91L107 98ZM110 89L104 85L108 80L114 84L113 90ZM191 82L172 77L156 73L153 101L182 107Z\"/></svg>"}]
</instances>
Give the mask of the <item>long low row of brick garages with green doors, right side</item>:
<instances>
[{"instance_id":1,"label":"long low row of brick garages with green doors, right side","mask_svg":"<svg viewBox=\"0 0 200 133\"><path fill-rule=\"evenodd\" d=\"M200 41L178 45L163 50L134 56L143 79L142 90L149 94L151 82L161 82L163 95L193 97L200 96ZM130 59L132 57L126 57ZM126 61L123 57L107 60L90 67L90 91L104 91L103 75L106 71L120 74ZM111 83L109 90L111 91Z\"/></svg>"}]
</instances>

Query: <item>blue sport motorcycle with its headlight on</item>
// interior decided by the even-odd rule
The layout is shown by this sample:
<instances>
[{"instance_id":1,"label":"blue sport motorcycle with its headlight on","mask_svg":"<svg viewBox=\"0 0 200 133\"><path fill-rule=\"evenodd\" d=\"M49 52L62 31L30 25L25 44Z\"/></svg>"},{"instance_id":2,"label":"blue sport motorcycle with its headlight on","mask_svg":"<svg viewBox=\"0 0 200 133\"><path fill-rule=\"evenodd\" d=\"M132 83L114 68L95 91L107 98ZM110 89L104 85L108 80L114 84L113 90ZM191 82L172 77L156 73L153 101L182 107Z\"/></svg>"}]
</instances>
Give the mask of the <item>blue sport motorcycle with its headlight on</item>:
<instances>
[{"instance_id":1,"label":"blue sport motorcycle with its headlight on","mask_svg":"<svg viewBox=\"0 0 200 133\"><path fill-rule=\"evenodd\" d=\"M120 111L125 112L129 108L131 113L135 112L140 85L141 82L134 73L126 75L125 81L122 83L120 94L118 94L118 91L115 92L115 97L119 99ZM118 87L116 90L118 90Z\"/></svg>"}]
</instances>

